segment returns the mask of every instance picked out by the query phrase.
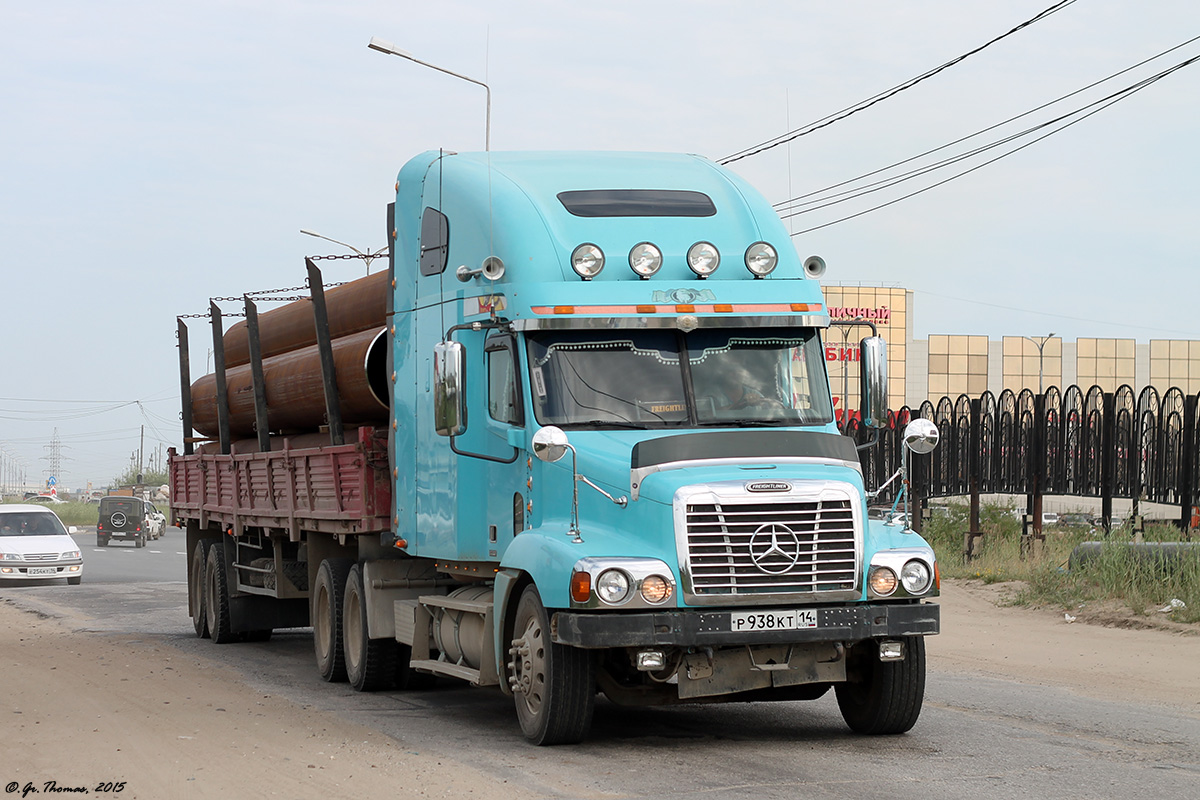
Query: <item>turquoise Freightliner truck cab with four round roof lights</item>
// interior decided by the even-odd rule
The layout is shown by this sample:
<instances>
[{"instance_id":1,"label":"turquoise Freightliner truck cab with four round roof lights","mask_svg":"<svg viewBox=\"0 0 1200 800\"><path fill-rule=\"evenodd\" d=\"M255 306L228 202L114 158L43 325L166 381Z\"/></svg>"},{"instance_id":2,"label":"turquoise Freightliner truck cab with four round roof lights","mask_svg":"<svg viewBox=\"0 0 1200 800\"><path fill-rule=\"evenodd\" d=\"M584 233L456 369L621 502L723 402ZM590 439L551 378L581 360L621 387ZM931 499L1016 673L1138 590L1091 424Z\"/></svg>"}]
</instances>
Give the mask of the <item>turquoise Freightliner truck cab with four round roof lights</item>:
<instances>
[{"instance_id":1,"label":"turquoise Freightliner truck cab with four round roof lights","mask_svg":"<svg viewBox=\"0 0 1200 800\"><path fill-rule=\"evenodd\" d=\"M916 722L934 552L868 519L820 285L752 187L688 155L428 152L391 218L391 546L490 639L448 657L424 631L454 603L397 601L414 668L494 670L539 744L598 690L833 686L856 730Z\"/></svg>"}]
</instances>

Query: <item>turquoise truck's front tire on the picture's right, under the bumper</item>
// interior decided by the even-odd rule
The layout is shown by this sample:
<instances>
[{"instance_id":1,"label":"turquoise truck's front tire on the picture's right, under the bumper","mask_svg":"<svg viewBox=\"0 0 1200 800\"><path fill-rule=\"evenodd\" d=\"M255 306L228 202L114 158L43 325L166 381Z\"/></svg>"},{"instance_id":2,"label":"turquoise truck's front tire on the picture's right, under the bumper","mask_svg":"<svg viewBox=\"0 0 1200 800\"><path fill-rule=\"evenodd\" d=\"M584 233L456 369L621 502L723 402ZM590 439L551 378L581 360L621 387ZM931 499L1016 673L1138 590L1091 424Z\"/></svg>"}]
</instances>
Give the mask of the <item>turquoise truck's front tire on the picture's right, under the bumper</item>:
<instances>
[{"instance_id":1,"label":"turquoise truck's front tire on the picture's right, under the bumper","mask_svg":"<svg viewBox=\"0 0 1200 800\"><path fill-rule=\"evenodd\" d=\"M863 642L851 651L854 681L838 684L838 708L854 733L893 735L917 724L925 699L925 639L904 637L904 661L880 661L877 644Z\"/></svg>"}]
</instances>

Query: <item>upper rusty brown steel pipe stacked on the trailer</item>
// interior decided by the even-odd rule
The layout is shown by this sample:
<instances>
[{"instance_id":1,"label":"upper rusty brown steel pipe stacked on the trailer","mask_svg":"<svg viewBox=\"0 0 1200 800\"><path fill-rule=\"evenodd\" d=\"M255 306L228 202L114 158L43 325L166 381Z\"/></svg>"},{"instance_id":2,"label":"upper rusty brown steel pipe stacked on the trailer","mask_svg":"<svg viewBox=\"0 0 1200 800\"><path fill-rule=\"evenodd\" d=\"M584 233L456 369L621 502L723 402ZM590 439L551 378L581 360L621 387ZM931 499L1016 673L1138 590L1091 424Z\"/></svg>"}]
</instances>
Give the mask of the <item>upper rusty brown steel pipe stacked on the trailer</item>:
<instances>
[{"instance_id":1,"label":"upper rusty brown steel pipe stacked on the trailer","mask_svg":"<svg viewBox=\"0 0 1200 800\"><path fill-rule=\"evenodd\" d=\"M376 272L328 290L325 306L330 338L336 341L350 333L382 327L388 315L388 291L386 272ZM317 326L312 320L312 301L296 300L259 314L258 338L264 361L316 344ZM245 320L232 325L222 339L226 368L250 363L250 335Z\"/></svg>"}]
</instances>

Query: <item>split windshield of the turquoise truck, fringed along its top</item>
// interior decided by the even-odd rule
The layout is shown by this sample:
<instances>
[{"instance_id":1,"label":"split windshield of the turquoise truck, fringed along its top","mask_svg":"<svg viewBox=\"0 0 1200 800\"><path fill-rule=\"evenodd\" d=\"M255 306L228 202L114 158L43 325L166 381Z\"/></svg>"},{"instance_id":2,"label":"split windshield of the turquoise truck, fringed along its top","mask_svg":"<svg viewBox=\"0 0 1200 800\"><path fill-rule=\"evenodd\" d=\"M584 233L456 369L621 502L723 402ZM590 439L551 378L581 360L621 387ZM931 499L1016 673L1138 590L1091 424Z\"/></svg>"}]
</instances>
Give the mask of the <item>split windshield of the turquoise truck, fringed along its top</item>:
<instances>
[{"instance_id":1,"label":"split windshield of the turquoise truck, fringed along its top","mask_svg":"<svg viewBox=\"0 0 1200 800\"><path fill-rule=\"evenodd\" d=\"M541 425L689 427L833 420L814 329L529 335Z\"/></svg>"}]
</instances>

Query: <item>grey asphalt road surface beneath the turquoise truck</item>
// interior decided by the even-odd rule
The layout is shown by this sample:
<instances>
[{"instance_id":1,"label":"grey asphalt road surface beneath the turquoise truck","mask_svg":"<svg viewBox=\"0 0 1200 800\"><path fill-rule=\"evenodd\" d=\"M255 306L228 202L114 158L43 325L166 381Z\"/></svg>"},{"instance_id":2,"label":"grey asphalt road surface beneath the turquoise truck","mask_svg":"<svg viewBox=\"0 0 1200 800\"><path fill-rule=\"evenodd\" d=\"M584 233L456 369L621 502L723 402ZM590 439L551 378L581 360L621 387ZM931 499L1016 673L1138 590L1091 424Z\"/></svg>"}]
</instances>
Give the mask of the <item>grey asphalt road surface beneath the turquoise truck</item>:
<instances>
[{"instance_id":1,"label":"grey asphalt road surface beneath the turquoise truck","mask_svg":"<svg viewBox=\"0 0 1200 800\"><path fill-rule=\"evenodd\" d=\"M125 553L95 548L92 539L82 585L0 593L52 613L83 615L89 631L134 632L232 666L264 693L364 723L404 751L469 762L493 775L505 796L1200 796L1194 714L982 679L941 670L936 662L922 718L902 736L851 735L832 693L811 703L666 709L623 709L601 699L587 742L532 747L520 735L511 700L494 690L443 679L426 691L362 694L324 684L307 630L280 631L253 644L194 638L181 541L179 531L168 533Z\"/></svg>"}]
</instances>

